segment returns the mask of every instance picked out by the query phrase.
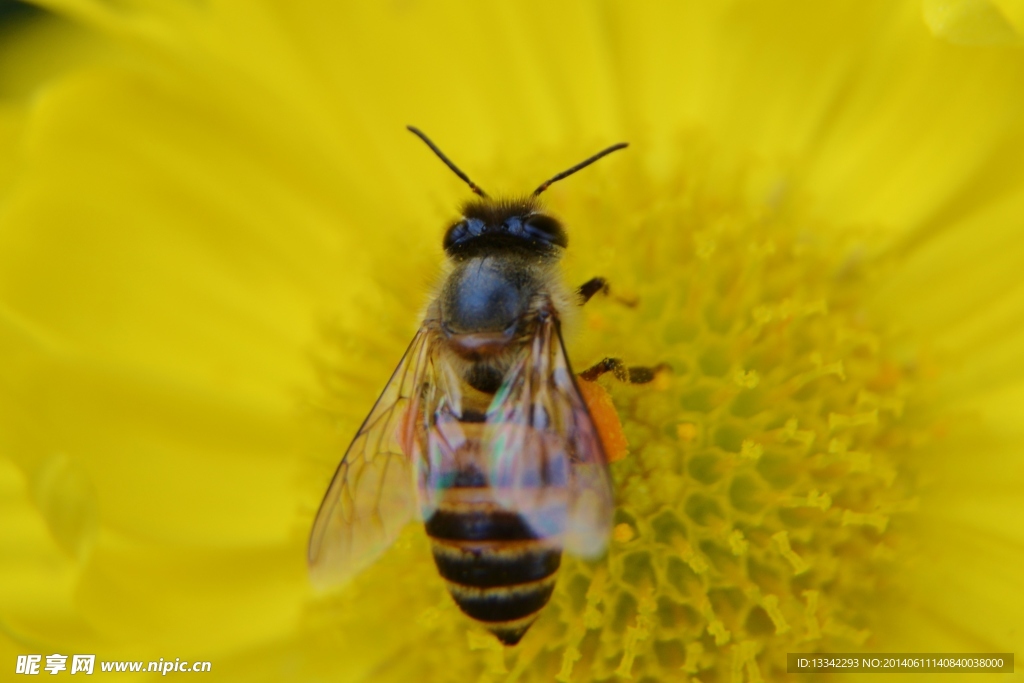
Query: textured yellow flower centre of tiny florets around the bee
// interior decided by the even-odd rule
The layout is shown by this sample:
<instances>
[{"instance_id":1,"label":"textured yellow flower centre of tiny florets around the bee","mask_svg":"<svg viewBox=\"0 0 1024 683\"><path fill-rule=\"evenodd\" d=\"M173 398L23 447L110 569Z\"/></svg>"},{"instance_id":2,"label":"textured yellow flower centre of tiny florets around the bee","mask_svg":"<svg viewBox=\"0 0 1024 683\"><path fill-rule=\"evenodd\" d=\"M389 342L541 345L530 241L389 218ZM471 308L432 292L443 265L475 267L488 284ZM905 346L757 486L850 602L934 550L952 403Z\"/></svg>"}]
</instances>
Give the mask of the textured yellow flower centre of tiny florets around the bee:
<instances>
[{"instance_id":1,"label":"textured yellow flower centre of tiny florets around the bee","mask_svg":"<svg viewBox=\"0 0 1024 683\"><path fill-rule=\"evenodd\" d=\"M550 199L569 282L603 275L639 300L587 305L577 370L607 355L673 368L607 382L630 442L607 560L566 557L546 611L504 649L451 604L411 528L310 629L341 614L346 632L428 638L409 668L430 680L760 681L787 652L870 637L867 598L887 588L894 515L913 502L913 371L861 307L872 271L848 233L712 166L657 187L624 166ZM469 659L467 638L482 650Z\"/></svg>"}]
</instances>

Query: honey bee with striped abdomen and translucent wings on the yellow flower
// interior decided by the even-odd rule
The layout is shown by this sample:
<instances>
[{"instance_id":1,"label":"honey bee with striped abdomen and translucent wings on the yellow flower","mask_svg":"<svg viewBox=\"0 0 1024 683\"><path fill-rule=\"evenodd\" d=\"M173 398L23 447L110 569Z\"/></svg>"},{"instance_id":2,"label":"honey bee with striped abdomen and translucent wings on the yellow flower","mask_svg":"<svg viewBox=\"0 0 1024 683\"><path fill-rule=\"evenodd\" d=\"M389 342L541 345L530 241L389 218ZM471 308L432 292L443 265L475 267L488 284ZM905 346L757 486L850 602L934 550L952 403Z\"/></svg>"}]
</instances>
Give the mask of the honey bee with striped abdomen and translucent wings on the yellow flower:
<instances>
[{"instance_id":1,"label":"honey bee with striped abdomen and translucent wings on the yellow flower","mask_svg":"<svg viewBox=\"0 0 1024 683\"><path fill-rule=\"evenodd\" d=\"M313 580L350 577L422 519L456 603L514 645L548 603L562 552L606 549L613 509L601 439L561 323L607 283L559 278L565 230L538 197L495 200L410 126L477 196L447 228L450 272L335 472L309 539ZM583 374L653 371L606 358Z\"/></svg>"}]
</instances>

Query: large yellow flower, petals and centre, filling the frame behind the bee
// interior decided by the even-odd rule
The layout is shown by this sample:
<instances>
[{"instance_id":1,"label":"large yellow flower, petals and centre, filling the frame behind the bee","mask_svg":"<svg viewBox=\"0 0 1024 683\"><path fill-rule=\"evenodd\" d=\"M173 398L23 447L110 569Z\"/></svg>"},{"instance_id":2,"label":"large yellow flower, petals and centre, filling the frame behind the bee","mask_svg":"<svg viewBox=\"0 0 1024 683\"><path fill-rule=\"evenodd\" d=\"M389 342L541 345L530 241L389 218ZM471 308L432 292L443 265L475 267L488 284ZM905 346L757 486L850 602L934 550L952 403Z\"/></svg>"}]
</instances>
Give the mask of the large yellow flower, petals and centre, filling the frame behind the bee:
<instances>
[{"instance_id":1,"label":"large yellow flower, petals and centre, filling the frame behind the bee","mask_svg":"<svg viewBox=\"0 0 1024 683\"><path fill-rule=\"evenodd\" d=\"M1020 649L1019 3L38 4L0 47L0 666L738 682ZM466 198L409 123L492 191L629 140L547 194L567 281L640 302L569 350L675 370L607 385L611 550L507 650L417 525L306 579Z\"/></svg>"}]
</instances>

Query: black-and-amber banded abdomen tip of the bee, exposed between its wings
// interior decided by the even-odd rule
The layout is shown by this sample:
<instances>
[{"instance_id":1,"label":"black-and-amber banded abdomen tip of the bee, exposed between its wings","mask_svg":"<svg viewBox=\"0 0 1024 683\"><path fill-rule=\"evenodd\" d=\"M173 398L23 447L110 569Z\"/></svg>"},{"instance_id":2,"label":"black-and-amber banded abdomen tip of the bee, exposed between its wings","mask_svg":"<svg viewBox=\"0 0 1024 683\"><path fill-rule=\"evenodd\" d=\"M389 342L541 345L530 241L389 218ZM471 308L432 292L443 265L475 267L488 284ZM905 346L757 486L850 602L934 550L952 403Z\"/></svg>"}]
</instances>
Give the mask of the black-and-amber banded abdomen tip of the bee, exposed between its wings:
<instances>
[{"instance_id":1,"label":"black-and-amber banded abdomen tip of the bee, exposed between its wings","mask_svg":"<svg viewBox=\"0 0 1024 683\"><path fill-rule=\"evenodd\" d=\"M483 486L446 489L427 536L459 608L515 645L551 598L561 549L493 499Z\"/></svg>"}]
</instances>

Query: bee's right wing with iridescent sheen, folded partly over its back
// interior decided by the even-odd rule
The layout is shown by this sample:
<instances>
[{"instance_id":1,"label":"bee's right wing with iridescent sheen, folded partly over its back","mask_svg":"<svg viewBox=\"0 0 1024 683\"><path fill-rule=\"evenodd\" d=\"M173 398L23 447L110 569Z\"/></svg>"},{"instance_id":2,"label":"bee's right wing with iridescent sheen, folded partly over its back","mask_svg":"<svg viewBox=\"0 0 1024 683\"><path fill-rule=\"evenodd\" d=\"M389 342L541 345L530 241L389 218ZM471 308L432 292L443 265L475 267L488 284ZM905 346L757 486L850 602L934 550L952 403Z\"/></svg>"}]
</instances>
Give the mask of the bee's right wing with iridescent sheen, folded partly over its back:
<instances>
[{"instance_id":1,"label":"bee's right wing with iridescent sheen, folded partly over its back","mask_svg":"<svg viewBox=\"0 0 1024 683\"><path fill-rule=\"evenodd\" d=\"M538 325L487 414L496 500L574 555L600 556L614 510L604 446L577 386L558 322Z\"/></svg>"}]
</instances>

